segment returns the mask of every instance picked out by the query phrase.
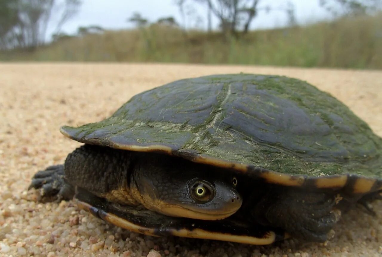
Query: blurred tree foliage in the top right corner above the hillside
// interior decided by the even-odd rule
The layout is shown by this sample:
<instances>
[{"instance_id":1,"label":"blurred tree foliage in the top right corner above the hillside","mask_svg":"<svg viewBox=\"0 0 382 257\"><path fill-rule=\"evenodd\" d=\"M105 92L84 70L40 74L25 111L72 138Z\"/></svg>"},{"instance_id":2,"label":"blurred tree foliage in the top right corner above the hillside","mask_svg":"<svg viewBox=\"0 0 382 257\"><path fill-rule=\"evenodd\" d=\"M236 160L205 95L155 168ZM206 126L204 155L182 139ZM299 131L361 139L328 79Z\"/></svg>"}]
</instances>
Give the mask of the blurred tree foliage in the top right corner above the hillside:
<instances>
[{"instance_id":1,"label":"blurred tree foliage in the top right corner above the hillside","mask_svg":"<svg viewBox=\"0 0 382 257\"><path fill-rule=\"evenodd\" d=\"M382 8L382 0L319 0L319 3L334 16L365 15Z\"/></svg>"}]
</instances>

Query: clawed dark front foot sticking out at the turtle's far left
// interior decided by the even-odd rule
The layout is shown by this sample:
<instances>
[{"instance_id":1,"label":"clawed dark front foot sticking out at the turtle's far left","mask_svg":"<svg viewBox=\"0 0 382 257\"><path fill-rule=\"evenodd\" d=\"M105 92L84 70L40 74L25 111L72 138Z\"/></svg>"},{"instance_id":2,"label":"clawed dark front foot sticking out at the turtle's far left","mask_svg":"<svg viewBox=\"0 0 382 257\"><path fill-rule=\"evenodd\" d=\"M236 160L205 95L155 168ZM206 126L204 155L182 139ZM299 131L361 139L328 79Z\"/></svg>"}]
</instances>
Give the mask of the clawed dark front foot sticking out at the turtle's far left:
<instances>
[{"instance_id":1,"label":"clawed dark front foot sticking out at the turtle's far left","mask_svg":"<svg viewBox=\"0 0 382 257\"><path fill-rule=\"evenodd\" d=\"M64 165L49 166L45 170L37 172L33 178L29 189L40 190L42 200L70 200L74 196L74 188L65 182Z\"/></svg>"}]
</instances>

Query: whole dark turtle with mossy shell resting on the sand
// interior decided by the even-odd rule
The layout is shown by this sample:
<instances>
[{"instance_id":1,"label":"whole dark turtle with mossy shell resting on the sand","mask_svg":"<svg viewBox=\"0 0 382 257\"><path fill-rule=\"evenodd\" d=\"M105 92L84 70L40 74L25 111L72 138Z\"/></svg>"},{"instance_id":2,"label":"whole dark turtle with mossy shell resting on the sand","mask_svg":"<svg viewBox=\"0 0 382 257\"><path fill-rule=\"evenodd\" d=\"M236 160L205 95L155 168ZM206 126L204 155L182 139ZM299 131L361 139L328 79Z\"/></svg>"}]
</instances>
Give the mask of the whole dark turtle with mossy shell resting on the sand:
<instances>
[{"instance_id":1,"label":"whole dark turtle with mossy shell resting on the sand","mask_svg":"<svg viewBox=\"0 0 382 257\"><path fill-rule=\"evenodd\" d=\"M289 77L178 80L60 132L84 144L30 188L146 235L324 242L342 213L360 204L375 214L382 198L382 139Z\"/></svg>"}]
</instances>

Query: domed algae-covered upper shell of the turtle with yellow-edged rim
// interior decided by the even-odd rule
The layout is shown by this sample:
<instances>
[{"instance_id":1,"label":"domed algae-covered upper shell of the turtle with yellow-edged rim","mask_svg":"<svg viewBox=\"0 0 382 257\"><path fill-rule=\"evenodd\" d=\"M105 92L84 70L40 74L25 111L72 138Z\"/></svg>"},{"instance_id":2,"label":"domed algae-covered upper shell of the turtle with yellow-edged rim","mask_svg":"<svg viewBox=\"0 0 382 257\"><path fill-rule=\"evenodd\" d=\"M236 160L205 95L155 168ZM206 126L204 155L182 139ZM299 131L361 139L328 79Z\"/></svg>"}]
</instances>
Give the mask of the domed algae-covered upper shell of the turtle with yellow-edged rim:
<instances>
[{"instance_id":1,"label":"domed algae-covered upper shell of the turtle with yellow-edged rim","mask_svg":"<svg viewBox=\"0 0 382 257\"><path fill-rule=\"evenodd\" d=\"M212 75L139 93L110 118L61 132L86 144L162 152L265 182L382 189L382 139L330 94L297 79Z\"/></svg>"}]
</instances>

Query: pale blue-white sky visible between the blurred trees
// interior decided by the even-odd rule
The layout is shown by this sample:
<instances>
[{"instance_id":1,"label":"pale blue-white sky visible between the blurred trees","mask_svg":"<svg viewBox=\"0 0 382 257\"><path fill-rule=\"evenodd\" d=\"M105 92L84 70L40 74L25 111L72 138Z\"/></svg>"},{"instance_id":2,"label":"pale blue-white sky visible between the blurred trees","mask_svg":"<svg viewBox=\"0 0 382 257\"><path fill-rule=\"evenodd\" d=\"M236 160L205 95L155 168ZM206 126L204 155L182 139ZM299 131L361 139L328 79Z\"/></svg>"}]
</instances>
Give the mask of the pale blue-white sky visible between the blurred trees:
<instances>
[{"instance_id":1,"label":"pale blue-white sky visible between the blurred trees","mask_svg":"<svg viewBox=\"0 0 382 257\"><path fill-rule=\"evenodd\" d=\"M174 2L175 0L83 0L78 14L63 26L62 31L74 34L79 26L89 25L98 25L105 29L132 28L133 24L126 22L126 20L134 11L138 11L151 22L161 17L173 16L183 26L180 11ZM261 0L259 6L285 7L286 2L288 1ZM330 18L330 14L319 7L319 0L290 0L290 2L295 5L298 24ZM190 16L186 19L186 27L206 29L207 8L193 0L188 0L188 3L186 9L194 9L202 20L196 24L195 15L194 17ZM253 20L251 29L285 26L287 21L285 12L272 11L266 14L265 11L261 11ZM217 24L217 19L214 19L213 25L215 28ZM52 30L53 28L50 28L48 34Z\"/></svg>"}]
</instances>

